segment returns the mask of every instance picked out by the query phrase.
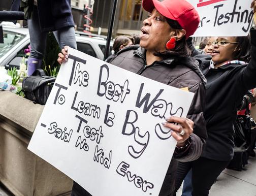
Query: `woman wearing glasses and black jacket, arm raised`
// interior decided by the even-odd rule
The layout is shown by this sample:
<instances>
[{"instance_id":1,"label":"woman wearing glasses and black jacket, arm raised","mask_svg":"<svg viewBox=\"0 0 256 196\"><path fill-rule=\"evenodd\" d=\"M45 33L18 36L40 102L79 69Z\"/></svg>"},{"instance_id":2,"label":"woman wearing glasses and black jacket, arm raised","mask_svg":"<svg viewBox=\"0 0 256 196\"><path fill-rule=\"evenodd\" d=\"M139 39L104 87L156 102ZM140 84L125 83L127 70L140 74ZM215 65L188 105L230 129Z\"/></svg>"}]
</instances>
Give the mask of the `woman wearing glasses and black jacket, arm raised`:
<instances>
[{"instance_id":1,"label":"woman wearing glasses and black jacket, arm raised","mask_svg":"<svg viewBox=\"0 0 256 196\"><path fill-rule=\"evenodd\" d=\"M251 6L255 12L255 0ZM187 172L192 169L192 195L208 195L218 175L233 158L233 124L237 109L243 95L256 86L255 28L254 24L250 30L251 39L249 36L218 37L212 43L211 55L195 56L200 61L200 69L207 79L204 116L208 139L199 159L179 162L176 190Z\"/></svg>"}]
</instances>

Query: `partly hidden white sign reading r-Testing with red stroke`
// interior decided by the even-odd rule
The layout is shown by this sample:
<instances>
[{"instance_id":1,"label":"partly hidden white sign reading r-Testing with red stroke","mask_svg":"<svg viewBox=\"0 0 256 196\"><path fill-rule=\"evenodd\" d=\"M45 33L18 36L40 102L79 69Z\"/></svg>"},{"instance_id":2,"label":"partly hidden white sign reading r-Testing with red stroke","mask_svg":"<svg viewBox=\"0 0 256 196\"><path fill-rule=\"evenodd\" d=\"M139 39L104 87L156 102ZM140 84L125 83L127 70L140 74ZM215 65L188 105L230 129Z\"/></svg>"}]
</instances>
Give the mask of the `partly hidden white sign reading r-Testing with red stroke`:
<instances>
[{"instance_id":1,"label":"partly hidden white sign reading r-Testing with red stroke","mask_svg":"<svg viewBox=\"0 0 256 196\"><path fill-rule=\"evenodd\" d=\"M253 22L252 0L187 0L200 15L193 36L247 36Z\"/></svg>"}]
</instances>

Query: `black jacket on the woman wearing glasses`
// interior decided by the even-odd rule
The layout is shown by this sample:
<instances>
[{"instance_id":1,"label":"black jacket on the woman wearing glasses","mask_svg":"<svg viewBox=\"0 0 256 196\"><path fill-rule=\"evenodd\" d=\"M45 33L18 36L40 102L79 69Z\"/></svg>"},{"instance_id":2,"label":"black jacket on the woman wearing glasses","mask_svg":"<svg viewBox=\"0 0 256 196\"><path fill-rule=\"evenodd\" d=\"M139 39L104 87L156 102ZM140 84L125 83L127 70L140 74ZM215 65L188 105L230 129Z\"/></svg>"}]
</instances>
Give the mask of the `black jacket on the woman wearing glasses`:
<instances>
[{"instance_id":1,"label":"black jacket on the woman wearing glasses","mask_svg":"<svg viewBox=\"0 0 256 196\"><path fill-rule=\"evenodd\" d=\"M196 55L207 79L205 120L208 139L202 157L228 161L233 158L237 109L249 89L256 87L256 30L251 29L251 60L209 69L210 55Z\"/></svg>"}]
</instances>

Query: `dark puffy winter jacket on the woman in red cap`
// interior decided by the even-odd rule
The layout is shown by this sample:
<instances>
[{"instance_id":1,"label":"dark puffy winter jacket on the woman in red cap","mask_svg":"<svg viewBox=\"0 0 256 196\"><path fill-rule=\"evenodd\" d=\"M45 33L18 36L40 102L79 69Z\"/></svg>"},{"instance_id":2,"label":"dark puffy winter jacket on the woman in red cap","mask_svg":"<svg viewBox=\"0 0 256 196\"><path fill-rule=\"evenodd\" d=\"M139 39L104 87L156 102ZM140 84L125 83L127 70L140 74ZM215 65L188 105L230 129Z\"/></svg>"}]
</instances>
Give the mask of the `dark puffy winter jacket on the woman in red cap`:
<instances>
[{"instance_id":1,"label":"dark puffy winter jacket on the woman in red cap","mask_svg":"<svg viewBox=\"0 0 256 196\"><path fill-rule=\"evenodd\" d=\"M190 92L195 93L187 114L187 118L195 123L194 134L190 137L191 145L183 153L175 151L159 194L165 196L173 195L177 160L192 161L199 158L207 138L203 115L205 107L204 84L206 81L199 70L197 61L191 57L165 59L163 61L155 61L146 66L145 52L145 49L139 47L139 45L126 47L120 50L117 53L118 56L110 63L167 85L177 88L188 87Z\"/></svg>"}]
</instances>

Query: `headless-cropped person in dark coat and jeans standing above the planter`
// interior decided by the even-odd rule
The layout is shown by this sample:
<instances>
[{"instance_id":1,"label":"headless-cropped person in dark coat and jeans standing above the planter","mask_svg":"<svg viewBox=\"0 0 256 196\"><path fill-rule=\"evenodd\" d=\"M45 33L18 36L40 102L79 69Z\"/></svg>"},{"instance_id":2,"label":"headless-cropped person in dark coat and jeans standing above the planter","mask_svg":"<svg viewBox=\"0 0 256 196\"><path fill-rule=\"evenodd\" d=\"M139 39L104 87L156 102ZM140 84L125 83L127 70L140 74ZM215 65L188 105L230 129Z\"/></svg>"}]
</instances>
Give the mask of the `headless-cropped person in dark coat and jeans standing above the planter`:
<instances>
[{"instance_id":1,"label":"headless-cropped person in dark coat and jeans standing above the planter","mask_svg":"<svg viewBox=\"0 0 256 196\"><path fill-rule=\"evenodd\" d=\"M53 34L62 49L68 45L77 49L75 24L71 13L71 0L21 1L13 0L11 10L24 11L30 36L30 56L27 60L27 75L41 68L45 54L47 33Z\"/></svg>"}]
</instances>

